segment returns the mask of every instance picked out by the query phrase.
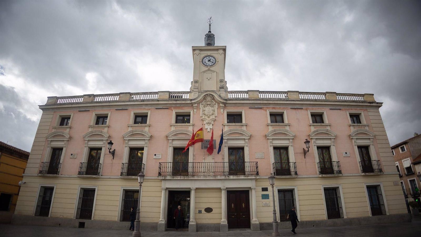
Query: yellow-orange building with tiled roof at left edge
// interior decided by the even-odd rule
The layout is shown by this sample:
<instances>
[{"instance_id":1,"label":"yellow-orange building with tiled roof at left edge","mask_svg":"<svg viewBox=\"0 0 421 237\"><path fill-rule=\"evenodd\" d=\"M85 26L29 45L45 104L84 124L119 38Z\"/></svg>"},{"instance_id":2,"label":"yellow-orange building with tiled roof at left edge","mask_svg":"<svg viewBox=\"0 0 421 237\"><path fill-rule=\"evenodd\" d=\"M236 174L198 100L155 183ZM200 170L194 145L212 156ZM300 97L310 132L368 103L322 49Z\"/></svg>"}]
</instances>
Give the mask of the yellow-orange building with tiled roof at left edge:
<instances>
[{"instance_id":1,"label":"yellow-orange building with tiled roof at left edge","mask_svg":"<svg viewBox=\"0 0 421 237\"><path fill-rule=\"evenodd\" d=\"M10 223L29 152L0 142L0 223Z\"/></svg>"}]
</instances>

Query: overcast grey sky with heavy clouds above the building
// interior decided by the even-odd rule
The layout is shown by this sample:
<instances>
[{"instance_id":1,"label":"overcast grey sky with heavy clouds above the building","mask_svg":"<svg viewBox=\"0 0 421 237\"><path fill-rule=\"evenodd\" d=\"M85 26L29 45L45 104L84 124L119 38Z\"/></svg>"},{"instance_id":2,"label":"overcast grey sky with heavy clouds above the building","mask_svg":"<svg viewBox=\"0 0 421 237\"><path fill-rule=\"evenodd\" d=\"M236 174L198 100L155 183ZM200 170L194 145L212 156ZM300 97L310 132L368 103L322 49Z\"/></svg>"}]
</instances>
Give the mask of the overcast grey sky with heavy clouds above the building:
<instances>
[{"instance_id":1,"label":"overcast grey sky with heavy clouds above the building","mask_svg":"<svg viewBox=\"0 0 421 237\"><path fill-rule=\"evenodd\" d=\"M0 1L0 140L30 150L47 96L187 91L214 19L229 90L373 93L421 133L421 1Z\"/></svg>"}]
</instances>

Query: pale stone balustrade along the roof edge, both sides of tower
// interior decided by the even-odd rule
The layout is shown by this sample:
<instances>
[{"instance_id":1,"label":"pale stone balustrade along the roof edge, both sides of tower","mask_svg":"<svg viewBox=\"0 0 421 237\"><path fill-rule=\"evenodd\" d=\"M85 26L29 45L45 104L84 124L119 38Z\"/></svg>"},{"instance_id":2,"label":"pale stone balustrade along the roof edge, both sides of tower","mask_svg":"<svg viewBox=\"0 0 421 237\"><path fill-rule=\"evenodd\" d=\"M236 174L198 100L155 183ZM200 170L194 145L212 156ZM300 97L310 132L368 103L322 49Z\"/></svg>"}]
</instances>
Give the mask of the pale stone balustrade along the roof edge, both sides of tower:
<instances>
[{"instance_id":1,"label":"pale stone balustrade along the roof edge, both sides of tower","mask_svg":"<svg viewBox=\"0 0 421 237\"><path fill-rule=\"evenodd\" d=\"M373 94L344 94L336 92L275 92L275 91L228 91L228 100L326 100L347 102L376 102ZM122 92L119 94L84 94L66 97L48 97L45 105L89 103L89 102L120 102L148 100L189 100L192 92Z\"/></svg>"}]
</instances>

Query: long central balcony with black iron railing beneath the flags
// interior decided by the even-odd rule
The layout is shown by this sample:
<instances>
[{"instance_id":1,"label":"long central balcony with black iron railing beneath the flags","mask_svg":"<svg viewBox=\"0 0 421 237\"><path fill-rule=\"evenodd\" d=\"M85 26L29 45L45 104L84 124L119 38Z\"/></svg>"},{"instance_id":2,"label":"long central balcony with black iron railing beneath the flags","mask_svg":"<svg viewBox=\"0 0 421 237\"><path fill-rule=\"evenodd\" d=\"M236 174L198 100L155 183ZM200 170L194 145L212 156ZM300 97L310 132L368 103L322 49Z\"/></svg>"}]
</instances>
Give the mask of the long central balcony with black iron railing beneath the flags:
<instances>
[{"instance_id":1,"label":"long central balcony with black iron railing beneath the flags","mask_svg":"<svg viewBox=\"0 0 421 237\"><path fill-rule=\"evenodd\" d=\"M257 162L160 162L158 176L259 175Z\"/></svg>"}]
</instances>

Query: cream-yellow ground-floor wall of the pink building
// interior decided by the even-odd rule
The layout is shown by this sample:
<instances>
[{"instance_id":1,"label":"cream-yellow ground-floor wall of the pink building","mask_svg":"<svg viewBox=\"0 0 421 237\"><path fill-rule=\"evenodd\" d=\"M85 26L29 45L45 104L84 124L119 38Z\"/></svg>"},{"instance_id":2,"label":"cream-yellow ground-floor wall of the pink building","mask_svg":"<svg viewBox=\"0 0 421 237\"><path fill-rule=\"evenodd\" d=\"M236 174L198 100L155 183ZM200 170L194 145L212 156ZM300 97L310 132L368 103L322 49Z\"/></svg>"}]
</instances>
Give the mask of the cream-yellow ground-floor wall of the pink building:
<instances>
[{"instance_id":1,"label":"cream-yellow ground-floor wall of the pink building","mask_svg":"<svg viewBox=\"0 0 421 237\"><path fill-rule=\"evenodd\" d=\"M80 188L94 188L92 220L120 221L124 189L139 189L137 178L77 176L24 176L15 214L35 215L37 198L41 186L54 187L49 217L76 218L77 198ZM235 186L236 183L245 185ZM386 215L407 213L405 198L396 174L348 175L335 177L276 178L274 185L275 208L279 211L278 191L293 190L297 214L300 221L328 219L323 189L338 187L342 200L344 218L368 217L370 211L367 185L378 185L385 201ZM272 222L272 187L267 178L161 180L145 178L141 191L141 222L166 223L168 220L168 191L191 190L195 197L193 218L197 224L221 224L226 217L226 195L224 191L247 190L250 194L250 221ZM222 189L221 189L222 188ZM263 188L263 189L262 189ZM267 191L265 191L267 188ZM253 193L255 195L253 195ZM262 195L263 194L263 195ZM162 195L165 195L162 198ZM223 199L224 197L224 199ZM269 199L267 199L269 197ZM192 204L191 204L192 205ZM230 205L230 204L228 204ZM255 209L253 206L255 205ZM204 209L211 207L212 212ZM254 209L254 210L253 210ZM201 210L201 213L199 213ZM191 215L191 214L190 214ZM279 216L279 215L278 215ZM257 222L257 221L258 222ZM222 222L221 222L222 221Z\"/></svg>"}]
</instances>

